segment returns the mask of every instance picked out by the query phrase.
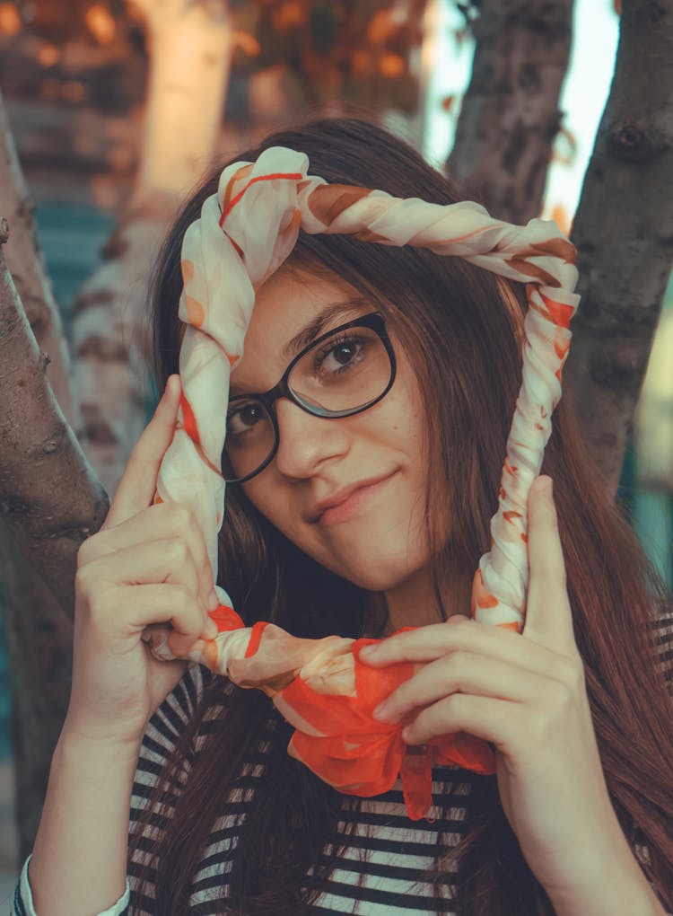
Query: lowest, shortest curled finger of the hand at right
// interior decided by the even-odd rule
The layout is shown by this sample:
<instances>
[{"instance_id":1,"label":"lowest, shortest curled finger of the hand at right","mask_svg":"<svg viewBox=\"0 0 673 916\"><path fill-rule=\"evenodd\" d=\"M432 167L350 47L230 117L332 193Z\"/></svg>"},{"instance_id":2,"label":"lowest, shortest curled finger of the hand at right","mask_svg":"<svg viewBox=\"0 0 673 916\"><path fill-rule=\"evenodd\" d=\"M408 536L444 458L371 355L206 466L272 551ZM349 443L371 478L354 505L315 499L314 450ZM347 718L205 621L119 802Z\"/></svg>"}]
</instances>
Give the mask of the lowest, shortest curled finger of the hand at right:
<instances>
[{"instance_id":1,"label":"lowest, shortest curled finger of the hand at right","mask_svg":"<svg viewBox=\"0 0 673 916\"><path fill-rule=\"evenodd\" d=\"M521 727L523 708L521 703L507 700L452 693L420 712L403 729L402 737L409 745L419 745L438 736L466 732L505 751L513 742L516 728Z\"/></svg>"}]
</instances>

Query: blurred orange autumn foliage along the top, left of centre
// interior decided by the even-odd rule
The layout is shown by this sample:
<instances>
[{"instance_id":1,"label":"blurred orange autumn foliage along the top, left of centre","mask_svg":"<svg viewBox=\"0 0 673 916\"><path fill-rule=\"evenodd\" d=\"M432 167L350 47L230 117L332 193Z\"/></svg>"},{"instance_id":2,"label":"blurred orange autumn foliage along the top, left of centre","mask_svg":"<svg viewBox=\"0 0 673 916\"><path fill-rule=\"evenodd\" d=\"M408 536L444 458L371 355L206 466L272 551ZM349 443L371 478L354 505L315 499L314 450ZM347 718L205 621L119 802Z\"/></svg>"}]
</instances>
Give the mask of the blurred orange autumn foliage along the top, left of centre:
<instances>
[{"instance_id":1,"label":"blurred orange autumn foliage along the top, left of centre","mask_svg":"<svg viewBox=\"0 0 673 916\"><path fill-rule=\"evenodd\" d=\"M341 99L413 111L425 6L426 0L230 0L233 76L248 80L260 71L280 71L290 104ZM39 67L26 85L18 80L16 91L33 94L38 83L43 97L58 94L54 80L73 79L73 58L83 73L95 70L96 61L144 63L147 57L142 19L131 0L0 0L0 48L21 40ZM0 70L16 83L15 74ZM86 77L75 79L83 93L71 86L72 98L65 93L62 101L96 104ZM40 80L48 81L46 96ZM13 87L6 88L11 93ZM127 101L138 101L139 88L136 82L136 97ZM107 106L115 107L114 100Z\"/></svg>"}]
</instances>

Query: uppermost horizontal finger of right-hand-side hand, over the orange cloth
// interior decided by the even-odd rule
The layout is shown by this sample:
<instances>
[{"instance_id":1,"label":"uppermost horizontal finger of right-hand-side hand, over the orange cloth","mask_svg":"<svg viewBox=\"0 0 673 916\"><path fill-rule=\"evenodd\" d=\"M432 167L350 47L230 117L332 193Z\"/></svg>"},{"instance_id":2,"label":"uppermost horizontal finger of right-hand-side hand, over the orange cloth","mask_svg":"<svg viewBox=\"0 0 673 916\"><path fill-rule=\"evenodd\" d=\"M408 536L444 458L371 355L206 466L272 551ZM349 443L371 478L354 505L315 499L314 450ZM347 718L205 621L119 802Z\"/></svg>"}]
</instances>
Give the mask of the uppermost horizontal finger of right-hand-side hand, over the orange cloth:
<instances>
[{"instance_id":1,"label":"uppermost horizontal finger of right-hand-side hand, over the orange cloth","mask_svg":"<svg viewBox=\"0 0 673 916\"><path fill-rule=\"evenodd\" d=\"M456 651L472 652L527 671L551 673L551 676L556 676L559 668L555 652L522 639L512 630L480 624L475 620L429 624L407 633L398 633L361 649L359 659L367 665L381 668L400 661L430 662Z\"/></svg>"}]
</instances>

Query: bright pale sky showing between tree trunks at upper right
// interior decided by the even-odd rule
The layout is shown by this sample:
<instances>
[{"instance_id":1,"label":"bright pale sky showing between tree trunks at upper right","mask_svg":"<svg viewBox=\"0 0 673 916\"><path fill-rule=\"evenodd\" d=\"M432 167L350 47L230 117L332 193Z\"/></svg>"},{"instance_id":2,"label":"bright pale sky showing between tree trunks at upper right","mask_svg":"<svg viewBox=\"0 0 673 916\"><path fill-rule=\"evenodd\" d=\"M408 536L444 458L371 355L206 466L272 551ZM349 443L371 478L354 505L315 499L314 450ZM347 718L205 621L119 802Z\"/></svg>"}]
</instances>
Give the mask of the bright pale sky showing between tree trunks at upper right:
<instances>
[{"instance_id":1,"label":"bright pale sky showing between tree trunks at upper right","mask_svg":"<svg viewBox=\"0 0 673 916\"><path fill-rule=\"evenodd\" d=\"M429 38L427 64L429 83L426 96L426 135L424 154L439 165L453 144L455 115L441 108L448 95L461 96L470 79L474 43L467 39L459 46L454 33L464 20L453 0L433 0L429 8L433 38ZM560 99L565 112L563 126L575 136L577 152L572 165L553 162L548 172L543 216L561 205L571 217L580 199L581 182L592 153L593 141L601 121L610 83L619 36L619 19L613 0L575 0L570 67ZM458 100L457 100L458 101ZM452 106L455 113L459 105ZM557 139L559 154L566 156L568 145Z\"/></svg>"}]
</instances>

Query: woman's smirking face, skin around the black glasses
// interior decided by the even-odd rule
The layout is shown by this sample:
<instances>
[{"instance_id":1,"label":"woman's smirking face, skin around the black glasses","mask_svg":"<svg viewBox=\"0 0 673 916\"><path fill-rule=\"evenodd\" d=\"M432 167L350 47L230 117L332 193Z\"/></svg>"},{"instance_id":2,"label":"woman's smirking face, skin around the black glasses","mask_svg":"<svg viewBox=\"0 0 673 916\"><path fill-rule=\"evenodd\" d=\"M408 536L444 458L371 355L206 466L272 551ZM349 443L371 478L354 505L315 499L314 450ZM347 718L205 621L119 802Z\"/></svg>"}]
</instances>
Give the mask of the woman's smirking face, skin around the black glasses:
<instances>
[{"instance_id":1,"label":"woman's smirking face, skin around the black glasses","mask_svg":"<svg viewBox=\"0 0 673 916\"><path fill-rule=\"evenodd\" d=\"M342 308L332 314L335 304ZM320 333L375 311L336 277L281 267L257 292L232 395L276 385L294 355L284 348L328 308L331 317ZM301 551L365 589L384 592L428 562L423 410L406 354L390 337L397 373L385 398L340 419L315 417L278 399L276 457L242 484L255 507ZM320 511L320 503L334 497L339 505Z\"/></svg>"}]
</instances>

